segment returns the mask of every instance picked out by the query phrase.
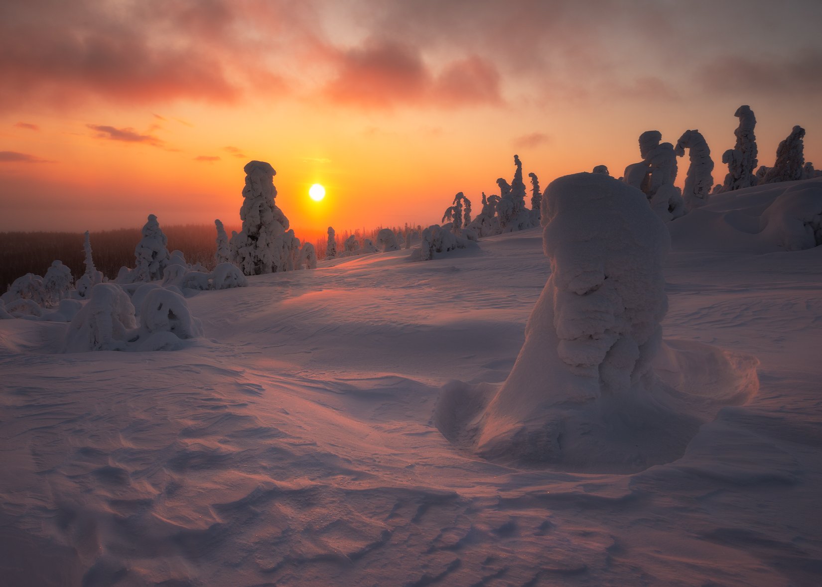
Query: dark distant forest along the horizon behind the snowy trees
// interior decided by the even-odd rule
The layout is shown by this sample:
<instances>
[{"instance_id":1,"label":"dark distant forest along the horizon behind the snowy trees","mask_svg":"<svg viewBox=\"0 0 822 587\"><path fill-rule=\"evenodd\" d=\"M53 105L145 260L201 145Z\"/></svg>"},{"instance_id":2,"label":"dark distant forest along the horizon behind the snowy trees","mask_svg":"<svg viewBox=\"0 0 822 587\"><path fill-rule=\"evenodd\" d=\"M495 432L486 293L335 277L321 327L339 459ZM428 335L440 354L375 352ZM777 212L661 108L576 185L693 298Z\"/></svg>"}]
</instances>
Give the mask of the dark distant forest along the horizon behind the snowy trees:
<instances>
[{"instance_id":1,"label":"dark distant forest along the horizon behind the snowy trees","mask_svg":"<svg viewBox=\"0 0 822 587\"><path fill-rule=\"evenodd\" d=\"M169 239L169 251L182 250L188 263L199 263L209 270L214 268L217 231L213 224L172 225L162 228ZM367 238L376 239L380 228L357 230L354 234L358 238L362 238L364 234ZM400 233L408 229L407 223L404 228L394 228ZM233 230L239 232L241 227L226 226L229 239ZM342 250L343 242L351 234L350 231L337 233L338 250ZM82 232L0 232L0 293L6 291L17 277L26 273L45 275L46 269L56 259L72 269L75 279L80 277L85 273L83 238ZM133 267L134 248L141 238L140 228L91 232L91 254L95 267L109 279L117 277L123 265ZM314 241L318 259L326 257L326 242L326 238Z\"/></svg>"}]
</instances>

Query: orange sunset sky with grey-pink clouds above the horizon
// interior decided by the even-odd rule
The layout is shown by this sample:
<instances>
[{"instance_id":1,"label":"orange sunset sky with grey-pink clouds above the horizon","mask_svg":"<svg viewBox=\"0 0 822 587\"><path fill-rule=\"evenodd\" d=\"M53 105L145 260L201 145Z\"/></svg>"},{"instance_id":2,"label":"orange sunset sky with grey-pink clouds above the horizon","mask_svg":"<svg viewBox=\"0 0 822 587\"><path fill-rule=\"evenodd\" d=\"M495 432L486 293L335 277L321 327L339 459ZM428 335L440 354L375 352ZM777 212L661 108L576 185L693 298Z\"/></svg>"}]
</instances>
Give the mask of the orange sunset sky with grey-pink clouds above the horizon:
<instances>
[{"instance_id":1,"label":"orange sunset sky with grey-pink clouds above the horizon","mask_svg":"<svg viewBox=\"0 0 822 587\"><path fill-rule=\"evenodd\" d=\"M653 129L699 129L721 182L741 104L760 164L799 124L822 167L820 23L819 0L6 0L0 230L236 225L251 159L298 236L430 223L514 154L543 186L619 177Z\"/></svg>"}]
</instances>

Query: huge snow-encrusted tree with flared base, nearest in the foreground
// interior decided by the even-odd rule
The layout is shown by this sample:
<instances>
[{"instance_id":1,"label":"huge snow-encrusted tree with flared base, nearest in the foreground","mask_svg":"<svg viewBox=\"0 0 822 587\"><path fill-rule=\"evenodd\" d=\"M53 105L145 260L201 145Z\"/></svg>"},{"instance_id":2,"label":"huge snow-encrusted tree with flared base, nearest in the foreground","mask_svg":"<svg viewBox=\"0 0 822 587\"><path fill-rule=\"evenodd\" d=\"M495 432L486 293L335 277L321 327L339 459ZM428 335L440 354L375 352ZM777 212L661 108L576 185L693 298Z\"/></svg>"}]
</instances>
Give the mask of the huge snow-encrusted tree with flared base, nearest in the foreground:
<instances>
[{"instance_id":1,"label":"huge snow-encrusted tree with flared base, nearest in the foreground","mask_svg":"<svg viewBox=\"0 0 822 587\"><path fill-rule=\"evenodd\" d=\"M543 227L551 275L475 443L492 458L569 469L626 458L608 434L656 409L650 363L667 311L670 237L640 190L599 173L552 181Z\"/></svg>"}]
</instances>

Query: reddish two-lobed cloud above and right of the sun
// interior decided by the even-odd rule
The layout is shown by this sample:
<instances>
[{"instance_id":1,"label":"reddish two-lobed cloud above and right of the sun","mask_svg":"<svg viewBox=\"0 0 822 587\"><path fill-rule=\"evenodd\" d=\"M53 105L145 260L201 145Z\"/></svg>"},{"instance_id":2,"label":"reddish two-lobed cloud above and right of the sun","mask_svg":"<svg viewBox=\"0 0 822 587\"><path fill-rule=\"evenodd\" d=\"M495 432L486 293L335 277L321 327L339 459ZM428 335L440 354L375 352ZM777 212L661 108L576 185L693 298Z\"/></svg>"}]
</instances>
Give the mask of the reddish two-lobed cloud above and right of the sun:
<instances>
[{"instance_id":1,"label":"reddish two-lobed cloud above and right of the sun","mask_svg":"<svg viewBox=\"0 0 822 587\"><path fill-rule=\"evenodd\" d=\"M447 62L438 74L418 48L387 39L368 39L340 51L336 73L323 89L332 103L360 108L399 104L455 108L499 104L500 75L491 62L471 55Z\"/></svg>"}]
</instances>

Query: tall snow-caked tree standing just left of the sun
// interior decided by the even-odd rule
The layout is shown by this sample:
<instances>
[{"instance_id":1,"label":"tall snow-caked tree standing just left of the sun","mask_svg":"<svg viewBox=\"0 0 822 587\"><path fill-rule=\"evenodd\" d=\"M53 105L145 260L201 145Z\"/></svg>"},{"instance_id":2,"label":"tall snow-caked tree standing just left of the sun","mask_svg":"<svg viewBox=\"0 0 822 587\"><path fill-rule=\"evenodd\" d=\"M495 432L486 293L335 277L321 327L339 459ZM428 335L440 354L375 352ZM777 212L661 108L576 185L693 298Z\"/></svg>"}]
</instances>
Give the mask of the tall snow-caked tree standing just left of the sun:
<instances>
[{"instance_id":1,"label":"tall snow-caked tree standing just left of the sun","mask_svg":"<svg viewBox=\"0 0 822 587\"><path fill-rule=\"evenodd\" d=\"M289 219L275 204L277 172L264 161L250 161L243 171L242 231L231 238L232 261L246 275L287 271L298 258L299 241L289 232Z\"/></svg>"}]
</instances>

